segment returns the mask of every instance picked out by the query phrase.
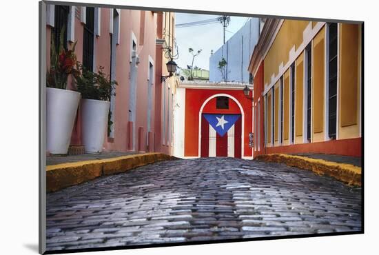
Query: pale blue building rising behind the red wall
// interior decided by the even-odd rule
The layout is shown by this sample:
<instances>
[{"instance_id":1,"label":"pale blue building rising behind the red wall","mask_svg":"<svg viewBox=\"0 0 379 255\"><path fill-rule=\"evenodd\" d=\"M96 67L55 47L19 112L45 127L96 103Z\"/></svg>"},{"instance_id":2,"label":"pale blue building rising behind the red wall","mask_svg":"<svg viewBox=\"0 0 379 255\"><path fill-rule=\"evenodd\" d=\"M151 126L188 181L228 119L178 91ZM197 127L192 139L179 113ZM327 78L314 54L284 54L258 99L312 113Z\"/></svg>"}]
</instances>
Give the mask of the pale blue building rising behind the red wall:
<instances>
[{"instance_id":1,"label":"pale blue building rising behind the red wall","mask_svg":"<svg viewBox=\"0 0 379 255\"><path fill-rule=\"evenodd\" d=\"M209 58L209 81L249 83L248 66L259 37L260 19L251 18ZM218 62L225 59L223 74Z\"/></svg>"}]
</instances>

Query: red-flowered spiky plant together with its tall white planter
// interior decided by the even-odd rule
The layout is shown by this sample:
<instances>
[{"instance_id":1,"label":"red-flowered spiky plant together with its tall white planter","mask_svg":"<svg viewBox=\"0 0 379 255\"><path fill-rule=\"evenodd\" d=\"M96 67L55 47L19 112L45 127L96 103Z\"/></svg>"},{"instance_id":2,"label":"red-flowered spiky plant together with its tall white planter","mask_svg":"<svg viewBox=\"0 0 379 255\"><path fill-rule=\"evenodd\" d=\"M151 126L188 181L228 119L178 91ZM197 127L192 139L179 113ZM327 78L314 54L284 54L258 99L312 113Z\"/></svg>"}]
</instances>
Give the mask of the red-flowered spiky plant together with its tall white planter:
<instances>
[{"instance_id":1,"label":"red-flowered spiky plant together with its tall white planter","mask_svg":"<svg viewBox=\"0 0 379 255\"><path fill-rule=\"evenodd\" d=\"M71 50L65 50L63 33L64 28L58 49L52 37L46 79L46 150L51 154L67 154L80 99L79 92L67 90L68 77L76 72L76 42Z\"/></svg>"}]
</instances>

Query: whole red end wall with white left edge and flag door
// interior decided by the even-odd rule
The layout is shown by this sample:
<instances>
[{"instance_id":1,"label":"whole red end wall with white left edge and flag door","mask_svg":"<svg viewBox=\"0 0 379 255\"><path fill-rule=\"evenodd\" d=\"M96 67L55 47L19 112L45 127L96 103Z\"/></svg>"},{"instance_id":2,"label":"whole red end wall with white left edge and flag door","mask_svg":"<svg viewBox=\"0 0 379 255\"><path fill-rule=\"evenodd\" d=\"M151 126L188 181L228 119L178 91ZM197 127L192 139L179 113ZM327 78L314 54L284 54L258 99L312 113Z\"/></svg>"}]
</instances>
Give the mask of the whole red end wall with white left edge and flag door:
<instances>
[{"instance_id":1,"label":"whole red end wall with white left edge and flag door","mask_svg":"<svg viewBox=\"0 0 379 255\"><path fill-rule=\"evenodd\" d=\"M240 83L180 83L174 109L174 156L252 159L252 100L243 88Z\"/></svg>"}]
</instances>

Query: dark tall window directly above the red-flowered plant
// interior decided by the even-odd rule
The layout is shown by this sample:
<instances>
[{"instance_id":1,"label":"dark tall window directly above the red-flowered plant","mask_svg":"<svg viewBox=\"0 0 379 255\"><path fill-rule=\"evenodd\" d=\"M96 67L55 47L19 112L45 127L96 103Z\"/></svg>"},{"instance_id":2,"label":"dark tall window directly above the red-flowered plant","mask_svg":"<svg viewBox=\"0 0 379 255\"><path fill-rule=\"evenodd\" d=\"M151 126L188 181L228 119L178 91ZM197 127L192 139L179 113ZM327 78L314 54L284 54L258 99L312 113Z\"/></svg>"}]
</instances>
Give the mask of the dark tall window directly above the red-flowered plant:
<instances>
[{"instance_id":1,"label":"dark tall window directly above the red-flowered plant","mask_svg":"<svg viewBox=\"0 0 379 255\"><path fill-rule=\"evenodd\" d=\"M63 47L67 50L67 25L69 12L70 8L68 6L55 6L54 8L54 28L52 28L52 33L54 34L54 44L57 51L59 50L62 28L64 28Z\"/></svg>"}]
</instances>

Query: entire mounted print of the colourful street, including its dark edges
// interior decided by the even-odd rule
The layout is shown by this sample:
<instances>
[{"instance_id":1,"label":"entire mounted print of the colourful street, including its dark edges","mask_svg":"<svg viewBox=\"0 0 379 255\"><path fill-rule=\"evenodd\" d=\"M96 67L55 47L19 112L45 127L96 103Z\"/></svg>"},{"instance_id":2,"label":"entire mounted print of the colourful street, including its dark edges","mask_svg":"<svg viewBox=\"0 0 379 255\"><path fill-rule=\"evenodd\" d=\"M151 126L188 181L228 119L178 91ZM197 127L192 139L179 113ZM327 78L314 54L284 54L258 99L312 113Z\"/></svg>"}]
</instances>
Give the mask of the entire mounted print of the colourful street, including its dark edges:
<instances>
[{"instance_id":1,"label":"entire mounted print of the colourful street, including its dark edges","mask_svg":"<svg viewBox=\"0 0 379 255\"><path fill-rule=\"evenodd\" d=\"M39 18L40 254L364 233L362 21Z\"/></svg>"}]
</instances>

